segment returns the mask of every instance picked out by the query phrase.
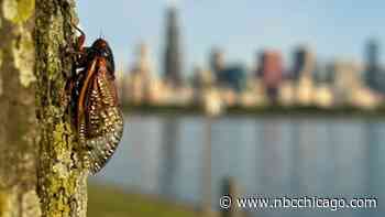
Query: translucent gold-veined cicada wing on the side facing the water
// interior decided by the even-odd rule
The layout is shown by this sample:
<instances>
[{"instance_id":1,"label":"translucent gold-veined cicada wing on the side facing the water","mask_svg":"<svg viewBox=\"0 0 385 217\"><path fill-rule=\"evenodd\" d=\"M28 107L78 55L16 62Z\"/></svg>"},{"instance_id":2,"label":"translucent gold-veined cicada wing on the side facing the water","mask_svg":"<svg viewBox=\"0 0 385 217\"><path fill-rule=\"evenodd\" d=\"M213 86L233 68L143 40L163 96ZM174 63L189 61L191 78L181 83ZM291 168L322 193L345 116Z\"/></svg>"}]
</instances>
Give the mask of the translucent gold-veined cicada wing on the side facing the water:
<instances>
[{"instance_id":1,"label":"translucent gold-veined cicada wing on the side facing the water","mask_svg":"<svg viewBox=\"0 0 385 217\"><path fill-rule=\"evenodd\" d=\"M86 100L87 137L90 171L99 172L110 160L123 134L123 115L120 110L113 77L101 64L92 78Z\"/></svg>"}]
</instances>

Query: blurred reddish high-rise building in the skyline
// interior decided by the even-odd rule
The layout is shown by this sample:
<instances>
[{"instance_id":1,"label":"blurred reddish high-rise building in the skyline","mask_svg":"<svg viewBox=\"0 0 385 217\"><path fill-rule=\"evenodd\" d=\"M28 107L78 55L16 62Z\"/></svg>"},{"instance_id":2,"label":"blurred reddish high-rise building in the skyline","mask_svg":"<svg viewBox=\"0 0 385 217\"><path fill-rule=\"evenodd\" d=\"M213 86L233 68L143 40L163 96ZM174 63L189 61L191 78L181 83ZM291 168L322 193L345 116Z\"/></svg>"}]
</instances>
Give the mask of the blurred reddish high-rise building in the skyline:
<instances>
[{"instance_id":1,"label":"blurred reddish high-rise building in the skyline","mask_svg":"<svg viewBox=\"0 0 385 217\"><path fill-rule=\"evenodd\" d=\"M265 51L258 55L256 75L262 77L268 97L276 101L278 88L283 78L283 61L279 52Z\"/></svg>"}]
</instances>

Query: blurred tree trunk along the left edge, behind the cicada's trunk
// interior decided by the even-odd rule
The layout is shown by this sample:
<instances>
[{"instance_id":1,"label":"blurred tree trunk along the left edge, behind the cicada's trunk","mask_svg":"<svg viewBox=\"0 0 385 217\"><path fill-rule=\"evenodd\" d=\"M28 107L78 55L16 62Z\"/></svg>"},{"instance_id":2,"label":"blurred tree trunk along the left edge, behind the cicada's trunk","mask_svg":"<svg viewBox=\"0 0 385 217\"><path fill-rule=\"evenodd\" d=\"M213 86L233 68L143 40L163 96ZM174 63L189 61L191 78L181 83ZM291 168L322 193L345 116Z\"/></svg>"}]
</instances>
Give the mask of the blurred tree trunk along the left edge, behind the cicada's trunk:
<instances>
[{"instance_id":1,"label":"blurred tree trunk along the left edge, behind the cicada's trunk","mask_svg":"<svg viewBox=\"0 0 385 217\"><path fill-rule=\"evenodd\" d=\"M0 217L36 217L34 0L0 9Z\"/></svg>"}]
</instances>

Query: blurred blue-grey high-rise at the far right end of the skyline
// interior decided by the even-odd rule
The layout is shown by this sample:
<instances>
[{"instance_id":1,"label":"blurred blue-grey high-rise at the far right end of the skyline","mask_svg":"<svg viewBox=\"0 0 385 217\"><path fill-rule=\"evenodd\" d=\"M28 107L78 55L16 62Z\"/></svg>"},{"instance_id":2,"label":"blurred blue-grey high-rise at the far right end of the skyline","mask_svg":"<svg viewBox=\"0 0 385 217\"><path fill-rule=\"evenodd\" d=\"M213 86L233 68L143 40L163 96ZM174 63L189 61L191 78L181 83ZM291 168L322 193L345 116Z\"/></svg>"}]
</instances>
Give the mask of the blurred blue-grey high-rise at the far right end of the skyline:
<instances>
[{"instance_id":1,"label":"blurred blue-grey high-rise at the far right end of the skyline","mask_svg":"<svg viewBox=\"0 0 385 217\"><path fill-rule=\"evenodd\" d=\"M378 87L378 73L380 73L380 45L376 40L370 40L365 48L366 61L366 83L371 88L377 89Z\"/></svg>"}]
</instances>

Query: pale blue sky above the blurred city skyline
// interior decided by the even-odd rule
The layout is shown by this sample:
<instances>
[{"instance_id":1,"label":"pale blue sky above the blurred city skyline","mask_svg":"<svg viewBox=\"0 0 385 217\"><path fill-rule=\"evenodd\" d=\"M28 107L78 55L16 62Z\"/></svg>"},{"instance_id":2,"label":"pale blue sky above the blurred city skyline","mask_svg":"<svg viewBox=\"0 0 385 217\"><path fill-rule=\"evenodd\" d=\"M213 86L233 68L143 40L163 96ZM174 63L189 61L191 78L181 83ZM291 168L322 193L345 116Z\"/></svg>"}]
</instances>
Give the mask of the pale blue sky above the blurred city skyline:
<instances>
[{"instance_id":1,"label":"pale blue sky above the blurred city skyline","mask_svg":"<svg viewBox=\"0 0 385 217\"><path fill-rule=\"evenodd\" d=\"M385 50L384 0L80 0L77 11L87 44L102 34L118 68L130 68L144 42L161 74L165 11L170 4L179 10L186 75L196 64L208 66L213 46L226 52L229 64L248 67L264 48L282 51L287 67L298 45L309 46L321 63L362 62L365 42L373 37Z\"/></svg>"}]
</instances>

